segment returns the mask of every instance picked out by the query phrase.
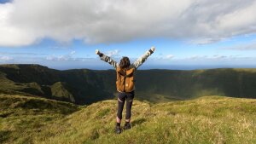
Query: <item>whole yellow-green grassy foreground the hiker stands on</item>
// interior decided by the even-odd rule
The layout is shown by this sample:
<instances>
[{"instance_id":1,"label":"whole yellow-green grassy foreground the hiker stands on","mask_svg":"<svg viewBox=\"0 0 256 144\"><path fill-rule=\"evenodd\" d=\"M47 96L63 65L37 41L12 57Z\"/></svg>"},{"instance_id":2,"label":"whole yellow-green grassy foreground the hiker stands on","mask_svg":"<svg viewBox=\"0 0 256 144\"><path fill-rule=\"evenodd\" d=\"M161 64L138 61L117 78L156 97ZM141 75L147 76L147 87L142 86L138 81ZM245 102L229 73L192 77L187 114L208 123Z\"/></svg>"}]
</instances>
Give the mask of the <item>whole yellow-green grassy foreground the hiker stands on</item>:
<instances>
[{"instance_id":1,"label":"whole yellow-green grassy foreground the hiker stands on","mask_svg":"<svg viewBox=\"0 0 256 144\"><path fill-rule=\"evenodd\" d=\"M0 95L0 143L256 143L253 99L204 96L159 104L134 101L132 129L120 135L113 132L115 113L112 100L79 107Z\"/></svg>"}]
</instances>

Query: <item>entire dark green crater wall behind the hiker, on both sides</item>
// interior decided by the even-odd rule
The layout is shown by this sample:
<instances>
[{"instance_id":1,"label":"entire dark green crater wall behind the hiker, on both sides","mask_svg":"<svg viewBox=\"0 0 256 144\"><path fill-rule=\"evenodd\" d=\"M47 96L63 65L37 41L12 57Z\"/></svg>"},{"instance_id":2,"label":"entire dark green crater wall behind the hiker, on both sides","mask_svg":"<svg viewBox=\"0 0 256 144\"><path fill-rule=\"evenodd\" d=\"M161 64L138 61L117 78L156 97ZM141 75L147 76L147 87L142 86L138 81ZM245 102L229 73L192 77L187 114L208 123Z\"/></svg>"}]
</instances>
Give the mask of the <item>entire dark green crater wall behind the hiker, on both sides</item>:
<instances>
[{"instance_id":1,"label":"entire dark green crater wall behind the hiker, on both sides","mask_svg":"<svg viewBox=\"0 0 256 144\"><path fill-rule=\"evenodd\" d=\"M0 94L30 95L76 104L113 99L115 71L58 71L39 65L0 65ZM204 95L256 98L256 69L143 70L136 74L140 101L188 100Z\"/></svg>"}]
</instances>

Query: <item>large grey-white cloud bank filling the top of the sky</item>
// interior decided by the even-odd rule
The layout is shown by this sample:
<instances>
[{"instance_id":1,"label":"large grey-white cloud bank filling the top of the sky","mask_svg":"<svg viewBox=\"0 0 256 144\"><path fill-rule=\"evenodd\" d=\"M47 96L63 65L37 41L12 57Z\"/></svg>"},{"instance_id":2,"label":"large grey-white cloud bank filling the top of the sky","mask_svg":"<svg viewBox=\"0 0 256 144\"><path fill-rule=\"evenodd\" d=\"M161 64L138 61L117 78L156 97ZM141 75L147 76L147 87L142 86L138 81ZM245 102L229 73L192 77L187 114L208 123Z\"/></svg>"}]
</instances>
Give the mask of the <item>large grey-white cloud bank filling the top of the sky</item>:
<instances>
[{"instance_id":1,"label":"large grey-white cloud bank filling the top of the sky","mask_svg":"<svg viewBox=\"0 0 256 144\"><path fill-rule=\"evenodd\" d=\"M255 0L14 0L0 4L0 46L44 37L117 43L169 37L212 43L256 32Z\"/></svg>"}]
</instances>

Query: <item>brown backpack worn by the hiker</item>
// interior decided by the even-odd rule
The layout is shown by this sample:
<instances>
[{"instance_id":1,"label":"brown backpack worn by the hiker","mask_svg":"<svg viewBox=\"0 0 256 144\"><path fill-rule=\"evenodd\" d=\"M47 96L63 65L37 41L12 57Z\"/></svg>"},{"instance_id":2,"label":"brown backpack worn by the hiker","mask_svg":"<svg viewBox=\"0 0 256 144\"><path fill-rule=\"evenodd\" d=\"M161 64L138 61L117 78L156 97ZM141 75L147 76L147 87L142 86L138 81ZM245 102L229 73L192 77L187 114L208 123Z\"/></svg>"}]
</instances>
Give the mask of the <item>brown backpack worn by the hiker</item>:
<instances>
[{"instance_id":1,"label":"brown backpack worn by the hiker","mask_svg":"<svg viewBox=\"0 0 256 144\"><path fill-rule=\"evenodd\" d=\"M116 88L119 92L131 92L134 90L134 75L135 68L127 70L117 67L116 69Z\"/></svg>"}]
</instances>

